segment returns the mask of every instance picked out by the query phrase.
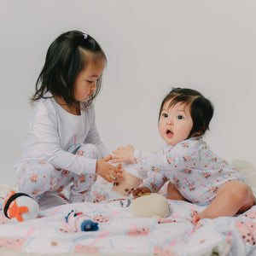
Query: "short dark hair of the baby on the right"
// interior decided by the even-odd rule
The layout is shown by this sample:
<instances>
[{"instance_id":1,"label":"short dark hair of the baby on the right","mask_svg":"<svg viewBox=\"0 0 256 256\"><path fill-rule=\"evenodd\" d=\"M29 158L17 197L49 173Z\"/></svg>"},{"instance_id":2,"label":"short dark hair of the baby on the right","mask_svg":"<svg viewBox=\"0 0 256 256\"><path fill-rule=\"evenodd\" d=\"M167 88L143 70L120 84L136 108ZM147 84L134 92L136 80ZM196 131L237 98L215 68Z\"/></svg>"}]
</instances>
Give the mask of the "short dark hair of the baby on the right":
<instances>
[{"instance_id":1,"label":"short dark hair of the baby on the right","mask_svg":"<svg viewBox=\"0 0 256 256\"><path fill-rule=\"evenodd\" d=\"M190 131L189 137L195 135L204 135L209 130L209 124L213 115L213 105L206 97L199 91L188 88L173 88L164 98L160 106L160 114L164 104L171 100L169 108L182 102L190 107L190 114L193 120L193 127Z\"/></svg>"}]
</instances>

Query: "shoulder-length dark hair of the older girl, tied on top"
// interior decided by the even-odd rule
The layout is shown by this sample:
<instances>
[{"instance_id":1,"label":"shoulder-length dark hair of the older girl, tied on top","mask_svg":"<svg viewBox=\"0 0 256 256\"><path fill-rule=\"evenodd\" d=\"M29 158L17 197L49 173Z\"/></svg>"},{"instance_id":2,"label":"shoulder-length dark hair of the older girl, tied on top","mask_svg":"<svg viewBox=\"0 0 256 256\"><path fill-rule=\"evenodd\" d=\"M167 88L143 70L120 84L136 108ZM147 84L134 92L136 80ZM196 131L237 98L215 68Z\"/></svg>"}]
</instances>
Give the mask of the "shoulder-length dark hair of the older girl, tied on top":
<instances>
[{"instance_id":1,"label":"shoulder-length dark hair of the older girl, tied on top","mask_svg":"<svg viewBox=\"0 0 256 256\"><path fill-rule=\"evenodd\" d=\"M90 54L90 55L89 55ZM44 67L38 76L36 92L32 102L45 98L45 93L61 96L67 106L80 109L79 102L74 98L73 87L81 70L91 62L107 62L100 44L88 34L79 31L62 33L49 45ZM84 107L90 106L102 87L102 77L97 79L96 90Z\"/></svg>"}]
</instances>

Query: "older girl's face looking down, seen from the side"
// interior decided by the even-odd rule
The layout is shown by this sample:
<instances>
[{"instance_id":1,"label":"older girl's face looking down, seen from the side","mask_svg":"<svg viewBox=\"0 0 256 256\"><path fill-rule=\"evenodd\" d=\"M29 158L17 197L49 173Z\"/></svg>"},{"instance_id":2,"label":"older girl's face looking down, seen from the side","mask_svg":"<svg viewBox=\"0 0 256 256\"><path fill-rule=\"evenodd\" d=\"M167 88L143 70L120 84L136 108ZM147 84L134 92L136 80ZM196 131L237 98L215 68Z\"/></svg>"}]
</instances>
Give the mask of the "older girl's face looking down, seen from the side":
<instances>
[{"instance_id":1,"label":"older girl's face looking down, seen from the side","mask_svg":"<svg viewBox=\"0 0 256 256\"><path fill-rule=\"evenodd\" d=\"M77 102L86 102L96 90L96 82L103 73L105 61L90 63L78 75L74 84L74 97Z\"/></svg>"}]
</instances>

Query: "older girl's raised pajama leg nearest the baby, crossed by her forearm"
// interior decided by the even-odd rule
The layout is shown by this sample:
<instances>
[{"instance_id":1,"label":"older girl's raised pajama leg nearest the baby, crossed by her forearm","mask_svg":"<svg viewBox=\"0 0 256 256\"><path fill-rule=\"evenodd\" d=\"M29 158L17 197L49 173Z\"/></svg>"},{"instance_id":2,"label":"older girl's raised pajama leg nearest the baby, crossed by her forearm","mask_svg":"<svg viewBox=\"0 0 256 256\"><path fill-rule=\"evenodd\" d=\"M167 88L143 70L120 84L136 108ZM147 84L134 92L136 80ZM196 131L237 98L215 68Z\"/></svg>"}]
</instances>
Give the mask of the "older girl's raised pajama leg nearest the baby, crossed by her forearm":
<instances>
[{"instance_id":1,"label":"older girl's raised pajama leg nearest the baby, crossed by her forearm","mask_svg":"<svg viewBox=\"0 0 256 256\"><path fill-rule=\"evenodd\" d=\"M100 154L98 148L93 144L82 145L75 154L82 155L90 159L100 159L102 155ZM76 174L73 173L73 185L70 188L69 201L70 202L80 202L85 201L85 197L89 194L90 189L96 181L96 174L94 173L84 173Z\"/></svg>"}]
</instances>

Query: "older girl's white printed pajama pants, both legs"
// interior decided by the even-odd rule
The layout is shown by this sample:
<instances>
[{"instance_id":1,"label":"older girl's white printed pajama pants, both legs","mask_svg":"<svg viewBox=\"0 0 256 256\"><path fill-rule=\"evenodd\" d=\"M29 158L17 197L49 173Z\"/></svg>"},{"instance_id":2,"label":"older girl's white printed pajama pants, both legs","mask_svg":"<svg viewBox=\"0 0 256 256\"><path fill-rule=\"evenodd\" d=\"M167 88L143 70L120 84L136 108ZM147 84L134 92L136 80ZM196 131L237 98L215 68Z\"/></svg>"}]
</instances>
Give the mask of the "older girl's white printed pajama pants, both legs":
<instances>
[{"instance_id":1,"label":"older girl's white printed pajama pants, both legs","mask_svg":"<svg viewBox=\"0 0 256 256\"><path fill-rule=\"evenodd\" d=\"M96 146L92 144L69 147L71 153L85 158L98 159L101 157ZM41 195L60 194L63 189L70 185L69 202L85 201L86 196L96 181L96 174L76 174L53 166L45 160L27 162L21 166L18 172L20 191L31 195L39 201Z\"/></svg>"}]
</instances>

